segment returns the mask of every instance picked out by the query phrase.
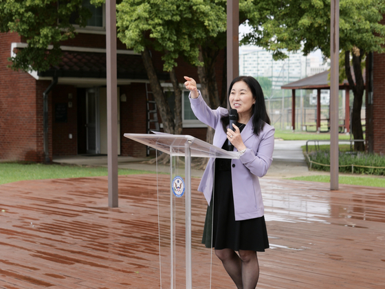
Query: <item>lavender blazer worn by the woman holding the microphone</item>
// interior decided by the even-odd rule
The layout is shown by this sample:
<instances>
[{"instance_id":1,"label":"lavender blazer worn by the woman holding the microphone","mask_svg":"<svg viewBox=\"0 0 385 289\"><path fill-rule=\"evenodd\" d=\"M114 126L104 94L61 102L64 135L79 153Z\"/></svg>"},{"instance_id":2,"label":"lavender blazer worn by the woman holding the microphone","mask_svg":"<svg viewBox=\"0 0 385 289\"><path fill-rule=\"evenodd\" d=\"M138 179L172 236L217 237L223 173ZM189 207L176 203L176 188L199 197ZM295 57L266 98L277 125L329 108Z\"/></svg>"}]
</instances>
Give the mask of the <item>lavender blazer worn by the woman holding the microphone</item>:
<instances>
[{"instance_id":1,"label":"lavender blazer worn by the woman holding the microphone","mask_svg":"<svg viewBox=\"0 0 385 289\"><path fill-rule=\"evenodd\" d=\"M199 92L198 98L190 98L192 111L197 118L215 129L213 144L222 147L227 140L223 131L221 116L228 114L228 109L218 107L210 109ZM272 164L274 150L274 127L265 124L256 136L253 133L252 119L241 132L243 143L247 147L239 160L232 160L232 191L234 197L235 220L248 220L264 215L263 200L259 178L267 173ZM236 149L234 148L234 151ZM198 191L203 192L208 204L212 197L214 184L214 159L210 158L201 178Z\"/></svg>"}]
</instances>

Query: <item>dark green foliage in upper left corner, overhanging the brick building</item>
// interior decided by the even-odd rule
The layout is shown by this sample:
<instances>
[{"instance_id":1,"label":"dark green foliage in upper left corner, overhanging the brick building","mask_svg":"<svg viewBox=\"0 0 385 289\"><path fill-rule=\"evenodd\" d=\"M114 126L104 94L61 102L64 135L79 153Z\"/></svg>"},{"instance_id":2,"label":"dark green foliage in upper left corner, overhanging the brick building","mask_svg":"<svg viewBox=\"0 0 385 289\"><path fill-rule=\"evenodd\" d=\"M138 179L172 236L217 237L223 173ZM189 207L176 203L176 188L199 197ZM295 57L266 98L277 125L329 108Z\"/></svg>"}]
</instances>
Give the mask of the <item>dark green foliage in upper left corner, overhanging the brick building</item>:
<instances>
[{"instance_id":1,"label":"dark green foliage in upper left corner, overhanging the brick building","mask_svg":"<svg viewBox=\"0 0 385 289\"><path fill-rule=\"evenodd\" d=\"M91 12L82 7L83 0L2 0L0 32L16 32L28 47L10 58L12 69L44 71L60 62L60 42L74 38L74 25L85 26ZM49 45L52 49L47 50Z\"/></svg>"}]
</instances>

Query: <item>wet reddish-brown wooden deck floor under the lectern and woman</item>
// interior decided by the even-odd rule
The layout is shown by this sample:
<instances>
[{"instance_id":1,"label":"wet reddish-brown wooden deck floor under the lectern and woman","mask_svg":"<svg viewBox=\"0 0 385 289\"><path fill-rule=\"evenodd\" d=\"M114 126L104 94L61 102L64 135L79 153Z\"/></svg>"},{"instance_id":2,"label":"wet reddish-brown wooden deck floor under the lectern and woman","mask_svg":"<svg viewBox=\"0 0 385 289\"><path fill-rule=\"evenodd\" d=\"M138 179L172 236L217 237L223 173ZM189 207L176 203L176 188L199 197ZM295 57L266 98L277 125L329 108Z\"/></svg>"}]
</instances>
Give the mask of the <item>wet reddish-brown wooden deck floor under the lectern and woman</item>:
<instances>
[{"instance_id":1,"label":"wet reddish-brown wooden deck floor under the lectern and woman","mask_svg":"<svg viewBox=\"0 0 385 289\"><path fill-rule=\"evenodd\" d=\"M112 209L107 178L1 185L0 288L160 288L159 270L169 271L169 180L159 176L157 186L156 178L120 177L119 208ZM261 186L271 248L259 253L257 288L385 288L384 189L329 191L329 184L271 179ZM179 204L175 211L183 255ZM210 250L200 244L205 213L203 196L194 193L193 288L210 286ZM183 265L177 269L183 275ZM168 288L167 277L162 284ZM235 288L214 255L211 287Z\"/></svg>"}]
</instances>

